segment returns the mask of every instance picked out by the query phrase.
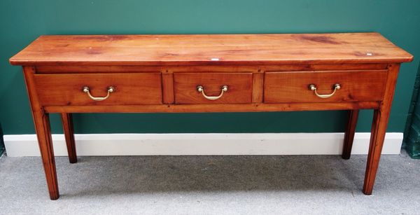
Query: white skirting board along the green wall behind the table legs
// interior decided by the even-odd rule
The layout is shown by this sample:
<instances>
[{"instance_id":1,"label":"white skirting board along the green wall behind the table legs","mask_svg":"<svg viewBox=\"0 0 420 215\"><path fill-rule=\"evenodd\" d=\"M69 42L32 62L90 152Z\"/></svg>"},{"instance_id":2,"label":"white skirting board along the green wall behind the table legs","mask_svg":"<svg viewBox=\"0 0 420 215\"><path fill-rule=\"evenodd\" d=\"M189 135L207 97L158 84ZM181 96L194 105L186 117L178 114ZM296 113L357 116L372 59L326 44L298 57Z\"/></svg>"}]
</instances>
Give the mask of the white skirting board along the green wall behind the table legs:
<instances>
[{"instance_id":1,"label":"white skirting board along the green wall behind the table legs","mask_svg":"<svg viewBox=\"0 0 420 215\"><path fill-rule=\"evenodd\" d=\"M79 156L100 155L339 155L343 133L75 134ZM367 154L370 133L356 133L352 154ZM63 134L54 153L66 156ZM39 156L35 134L4 135L10 157ZM382 154L398 155L402 133L386 133Z\"/></svg>"}]
</instances>

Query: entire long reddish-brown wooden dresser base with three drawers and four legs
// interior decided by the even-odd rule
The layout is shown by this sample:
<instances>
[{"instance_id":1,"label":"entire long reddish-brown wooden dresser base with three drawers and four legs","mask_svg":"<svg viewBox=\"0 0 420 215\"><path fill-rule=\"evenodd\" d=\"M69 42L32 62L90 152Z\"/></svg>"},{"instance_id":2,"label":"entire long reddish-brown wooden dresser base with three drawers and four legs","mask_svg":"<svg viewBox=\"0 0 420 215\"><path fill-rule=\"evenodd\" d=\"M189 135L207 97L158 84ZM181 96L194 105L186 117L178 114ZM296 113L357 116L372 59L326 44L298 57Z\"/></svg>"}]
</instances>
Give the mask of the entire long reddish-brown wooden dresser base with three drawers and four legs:
<instances>
[{"instance_id":1,"label":"entire long reddish-brown wooden dresser base with three drawers and four legs","mask_svg":"<svg viewBox=\"0 0 420 215\"><path fill-rule=\"evenodd\" d=\"M400 63L412 55L377 33L41 36L23 67L51 200L59 190L49 113L348 110L349 159L360 109L373 109L363 193L372 194Z\"/></svg>"}]
</instances>

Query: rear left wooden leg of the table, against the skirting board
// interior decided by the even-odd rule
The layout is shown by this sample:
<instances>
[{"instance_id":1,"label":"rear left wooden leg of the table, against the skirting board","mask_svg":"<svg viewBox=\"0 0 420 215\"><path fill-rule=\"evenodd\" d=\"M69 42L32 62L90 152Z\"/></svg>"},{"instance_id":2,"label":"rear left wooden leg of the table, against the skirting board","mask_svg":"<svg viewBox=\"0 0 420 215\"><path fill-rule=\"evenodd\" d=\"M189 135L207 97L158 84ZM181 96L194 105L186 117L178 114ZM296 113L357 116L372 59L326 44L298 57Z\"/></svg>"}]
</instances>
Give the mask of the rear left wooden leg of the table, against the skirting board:
<instances>
[{"instance_id":1,"label":"rear left wooden leg of the table, against the skirting board","mask_svg":"<svg viewBox=\"0 0 420 215\"><path fill-rule=\"evenodd\" d=\"M74 142L73 120L71 113L61 113L64 137L66 138L67 153L70 163L77 162L76 144Z\"/></svg>"}]
</instances>

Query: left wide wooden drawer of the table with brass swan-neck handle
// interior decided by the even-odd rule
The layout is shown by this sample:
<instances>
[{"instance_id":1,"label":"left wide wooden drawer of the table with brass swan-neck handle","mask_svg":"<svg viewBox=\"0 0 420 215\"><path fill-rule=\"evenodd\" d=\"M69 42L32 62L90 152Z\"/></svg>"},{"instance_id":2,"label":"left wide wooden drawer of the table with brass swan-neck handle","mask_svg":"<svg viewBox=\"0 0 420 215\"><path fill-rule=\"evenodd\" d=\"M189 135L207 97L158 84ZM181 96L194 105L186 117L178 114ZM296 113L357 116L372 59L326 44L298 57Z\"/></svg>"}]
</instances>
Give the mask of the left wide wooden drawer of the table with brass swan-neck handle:
<instances>
[{"instance_id":1,"label":"left wide wooden drawer of the table with brass swan-neck handle","mask_svg":"<svg viewBox=\"0 0 420 215\"><path fill-rule=\"evenodd\" d=\"M34 82L44 106L162 104L160 73L36 74ZM111 86L113 92L104 99Z\"/></svg>"}]
</instances>

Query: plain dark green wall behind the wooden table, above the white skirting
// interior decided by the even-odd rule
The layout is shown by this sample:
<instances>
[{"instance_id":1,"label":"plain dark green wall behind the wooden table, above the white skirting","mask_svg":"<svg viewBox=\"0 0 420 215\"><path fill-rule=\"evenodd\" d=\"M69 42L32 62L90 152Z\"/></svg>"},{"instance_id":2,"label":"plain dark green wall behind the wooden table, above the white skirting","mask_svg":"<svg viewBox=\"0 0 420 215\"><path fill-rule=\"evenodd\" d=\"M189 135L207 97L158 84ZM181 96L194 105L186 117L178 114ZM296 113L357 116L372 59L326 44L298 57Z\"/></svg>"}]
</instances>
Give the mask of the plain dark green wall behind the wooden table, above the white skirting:
<instances>
[{"instance_id":1,"label":"plain dark green wall behind the wooden table, above the white skirting","mask_svg":"<svg viewBox=\"0 0 420 215\"><path fill-rule=\"evenodd\" d=\"M0 1L0 121L4 134L33 134L20 67L8 58L41 34L244 34L379 32L420 56L418 0ZM402 132L418 58L403 64L388 131ZM346 113L75 114L77 133L342 132ZM357 130L370 131L372 111ZM52 115L52 131L61 132Z\"/></svg>"}]
</instances>

